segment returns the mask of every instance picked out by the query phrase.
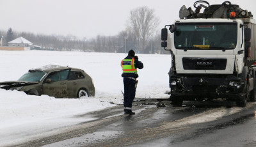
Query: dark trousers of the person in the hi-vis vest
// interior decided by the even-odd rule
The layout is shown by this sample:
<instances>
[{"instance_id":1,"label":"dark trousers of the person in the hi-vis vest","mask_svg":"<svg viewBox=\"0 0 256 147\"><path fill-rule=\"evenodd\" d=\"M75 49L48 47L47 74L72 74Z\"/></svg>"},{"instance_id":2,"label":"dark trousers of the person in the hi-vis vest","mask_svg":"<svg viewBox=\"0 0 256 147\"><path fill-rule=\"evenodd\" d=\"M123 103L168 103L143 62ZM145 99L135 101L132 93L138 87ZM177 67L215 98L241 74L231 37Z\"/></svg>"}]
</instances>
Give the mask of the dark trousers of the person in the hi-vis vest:
<instances>
[{"instance_id":1,"label":"dark trousers of the person in the hi-vis vest","mask_svg":"<svg viewBox=\"0 0 256 147\"><path fill-rule=\"evenodd\" d=\"M132 109L132 101L135 97L135 80L124 78L124 107L127 110Z\"/></svg>"}]
</instances>

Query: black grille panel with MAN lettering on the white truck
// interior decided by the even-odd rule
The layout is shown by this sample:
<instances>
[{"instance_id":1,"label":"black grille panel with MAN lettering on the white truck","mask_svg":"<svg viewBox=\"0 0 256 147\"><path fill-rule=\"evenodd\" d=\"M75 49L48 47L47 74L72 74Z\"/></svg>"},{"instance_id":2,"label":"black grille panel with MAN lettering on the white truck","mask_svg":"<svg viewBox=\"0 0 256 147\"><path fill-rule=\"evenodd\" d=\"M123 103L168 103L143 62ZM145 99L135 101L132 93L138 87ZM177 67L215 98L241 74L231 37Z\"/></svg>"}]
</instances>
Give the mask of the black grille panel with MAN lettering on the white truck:
<instances>
[{"instance_id":1,"label":"black grille panel with MAN lettering on the white truck","mask_svg":"<svg viewBox=\"0 0 256 147\"><path fill-rule=\"evenodd\" d=\"M182 58L184 70L225 70L227 58Z\"/></svg>"}]
</instances>

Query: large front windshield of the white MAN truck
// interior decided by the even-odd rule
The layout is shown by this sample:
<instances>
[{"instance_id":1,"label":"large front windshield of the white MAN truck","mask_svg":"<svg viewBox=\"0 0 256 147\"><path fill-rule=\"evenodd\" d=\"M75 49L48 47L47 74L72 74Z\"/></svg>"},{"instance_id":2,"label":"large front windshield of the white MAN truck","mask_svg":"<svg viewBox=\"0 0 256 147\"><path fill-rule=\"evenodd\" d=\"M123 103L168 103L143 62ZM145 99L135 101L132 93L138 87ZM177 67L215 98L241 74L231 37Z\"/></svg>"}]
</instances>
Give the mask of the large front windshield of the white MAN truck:
<instances>
[{"instance_id":1,"label":"large front windshield of the white MAN truck","mask_svg":"<svg viewBox=\"0 0 256 147\"><path fill-rule=\"evenodd\" d=\"M176 49L235 49L237 23L176 23Z\"/></svg>"}]
</instances>

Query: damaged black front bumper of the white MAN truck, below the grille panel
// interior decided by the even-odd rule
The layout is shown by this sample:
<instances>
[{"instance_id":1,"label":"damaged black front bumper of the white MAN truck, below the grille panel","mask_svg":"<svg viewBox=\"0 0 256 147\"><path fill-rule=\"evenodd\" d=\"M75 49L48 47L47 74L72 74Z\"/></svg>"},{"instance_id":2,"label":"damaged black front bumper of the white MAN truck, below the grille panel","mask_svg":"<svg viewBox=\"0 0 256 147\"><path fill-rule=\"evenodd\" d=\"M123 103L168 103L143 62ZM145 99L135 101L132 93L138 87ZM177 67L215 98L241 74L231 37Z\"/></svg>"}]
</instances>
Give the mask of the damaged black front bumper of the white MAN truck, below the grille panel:
<instances>
[{"instance_id":1,"label":"damaged black front bumper of the white MAN truck, below the grille panel","mask_svg":"<svg viewBox=\"0 0 256 147\"><path fill-rule=\"evenodd\" d=\"M230 98L235 100L241 94L244 81L240 77L225 75L170 76L171 95L182 97L183 100L205 98Z\"/></svg>"}]
</instances>

